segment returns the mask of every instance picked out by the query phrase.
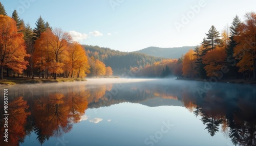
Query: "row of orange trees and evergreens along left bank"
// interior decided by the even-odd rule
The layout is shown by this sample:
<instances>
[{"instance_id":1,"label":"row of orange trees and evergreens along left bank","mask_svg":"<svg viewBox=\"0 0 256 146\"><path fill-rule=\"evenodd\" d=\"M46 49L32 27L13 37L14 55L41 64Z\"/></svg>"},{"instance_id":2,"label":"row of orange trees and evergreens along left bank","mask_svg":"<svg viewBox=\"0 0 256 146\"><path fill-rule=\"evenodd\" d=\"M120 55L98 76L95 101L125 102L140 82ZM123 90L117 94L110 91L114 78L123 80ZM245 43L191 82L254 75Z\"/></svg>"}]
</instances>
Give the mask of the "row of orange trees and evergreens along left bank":
<instances>
[{"instance_id":1,"label":"row of orange trees and evergreens along left bank","mask_svg":"<svg viewBox=\"0 0 256 146\"><path fill-rule=\"evenodd\" d=\"M69 33L58 28L52 29L41 16L32 30L29 23L25 25L19 18L16 10L11 17L7 16L4 6L0 3L0 23L0 79L3 79L5 70L6 76L9 77L10 69L13 77L15 72L18 77L19 74L23 76L24 72L27 72L27 77L32 79L36 76L47 79L84 78L90 72L94 76L113 74L111 67L98 65L103 63L99 60L93 60L89 64L83 46L72 41ZM106 70L103 71L104 74L98 74L99 68Z\"/></svg>"}]
</instances>

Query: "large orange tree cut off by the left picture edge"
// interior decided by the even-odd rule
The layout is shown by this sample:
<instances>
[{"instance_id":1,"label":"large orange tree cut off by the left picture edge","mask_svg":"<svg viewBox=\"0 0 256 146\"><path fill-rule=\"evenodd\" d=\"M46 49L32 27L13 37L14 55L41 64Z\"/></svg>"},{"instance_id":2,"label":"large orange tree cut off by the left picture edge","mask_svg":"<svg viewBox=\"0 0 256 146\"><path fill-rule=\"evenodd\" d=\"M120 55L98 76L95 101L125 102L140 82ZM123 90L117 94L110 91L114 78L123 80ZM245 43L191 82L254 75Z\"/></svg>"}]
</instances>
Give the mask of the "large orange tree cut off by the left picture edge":
<instances>
[{"instance_id":1,"label":"large orange tree cut off by the left picture edge","mask_svg":"<svg viewBox=\"0 0 256 146\"><path fill-rule=\"evenodd\" d=\"M17 32L16 22L8 16L0 15L0 79L3 79L4 66L12 68L15 72L22 73L28 62L23 34Z\"/></svg>"}]
</instances>

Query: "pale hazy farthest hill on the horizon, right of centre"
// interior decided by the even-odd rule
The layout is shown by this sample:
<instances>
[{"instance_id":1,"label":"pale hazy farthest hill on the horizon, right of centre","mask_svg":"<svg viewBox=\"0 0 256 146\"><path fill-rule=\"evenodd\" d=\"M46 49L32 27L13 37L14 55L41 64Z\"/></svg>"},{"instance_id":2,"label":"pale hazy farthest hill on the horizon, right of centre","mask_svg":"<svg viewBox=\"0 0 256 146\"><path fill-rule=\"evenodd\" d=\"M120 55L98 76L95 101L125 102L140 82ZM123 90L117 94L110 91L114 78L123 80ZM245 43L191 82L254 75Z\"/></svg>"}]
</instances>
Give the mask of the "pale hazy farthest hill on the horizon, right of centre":
<instances>
[{"instance_id":1,"label":"pale hazy farthest hill on the horizon, right of centre","mask_svg":"<svg viewBox=\"0 0 256 146\"><path fill-rule=\"evenodd\" d=\"M143 48L142 50L135 51L135 52L143 53L143 54L147 54L147 55L155 56L155 57L178 59L179 57L181 57L182 54L185 55L190 48L194 50L195 47L196 46L163 48L163 47L150 46L150 47Z\"/></svg>"}]
</instances>

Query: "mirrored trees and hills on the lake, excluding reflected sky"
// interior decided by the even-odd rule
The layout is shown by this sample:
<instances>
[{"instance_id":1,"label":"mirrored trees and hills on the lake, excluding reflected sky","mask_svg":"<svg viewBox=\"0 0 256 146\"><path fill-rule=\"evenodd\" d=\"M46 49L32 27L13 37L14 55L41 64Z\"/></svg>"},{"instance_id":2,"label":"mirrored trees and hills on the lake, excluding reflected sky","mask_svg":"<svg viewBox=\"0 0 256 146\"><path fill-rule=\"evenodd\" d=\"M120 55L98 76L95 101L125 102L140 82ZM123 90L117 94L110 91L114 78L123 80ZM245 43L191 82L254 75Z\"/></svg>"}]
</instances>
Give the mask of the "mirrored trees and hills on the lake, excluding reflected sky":
<instances>
[{"instance_id":1,"label":"mirrored trees and hills on the lake, excluding reflected sky","mask_svg":"<svg viewBox=\"0 0 256 146\"><path fill-rule=\"evenodd\" d=\"M82 83L10 87L8 144L23 143L25 137L33 133L37 141L43 144L53 136L60 137L70 132L73 124L79 123L88 108L123 102L146 106L184 106L200 118L209 136L221 131L234 145L256 144L255 87L217 84L201 97L197 88L203 83L185 83L151 81L136 84ZM1 106L3 113L3 101ZM3 132L0 140L0 145L7 144L3 140Z\"/></svg>"}]
</instances>

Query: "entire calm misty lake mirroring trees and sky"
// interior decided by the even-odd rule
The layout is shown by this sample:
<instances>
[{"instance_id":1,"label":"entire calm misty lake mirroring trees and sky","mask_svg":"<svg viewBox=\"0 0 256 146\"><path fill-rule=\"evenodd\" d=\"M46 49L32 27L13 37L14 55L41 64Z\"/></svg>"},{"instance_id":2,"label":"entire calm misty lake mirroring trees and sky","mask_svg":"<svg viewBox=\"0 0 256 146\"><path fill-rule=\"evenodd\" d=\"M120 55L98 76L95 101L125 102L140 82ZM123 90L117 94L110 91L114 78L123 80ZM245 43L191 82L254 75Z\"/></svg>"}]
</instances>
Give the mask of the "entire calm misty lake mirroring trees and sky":
<instances>
[{"instance_id":1,"label":"entire calm misty lake mirroring trees and sky","mask_svg":"<svg viewBox=\"0 0 256 146\"><path fill-rule=\"evenodd\" d=\"M88 79L8 89L0 145L255 145L256 86Z\"/></svg>"}]
</instances>

